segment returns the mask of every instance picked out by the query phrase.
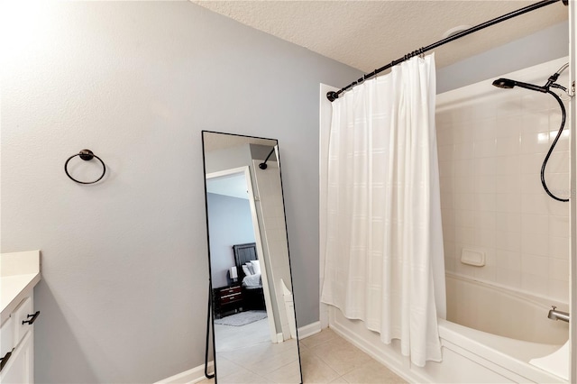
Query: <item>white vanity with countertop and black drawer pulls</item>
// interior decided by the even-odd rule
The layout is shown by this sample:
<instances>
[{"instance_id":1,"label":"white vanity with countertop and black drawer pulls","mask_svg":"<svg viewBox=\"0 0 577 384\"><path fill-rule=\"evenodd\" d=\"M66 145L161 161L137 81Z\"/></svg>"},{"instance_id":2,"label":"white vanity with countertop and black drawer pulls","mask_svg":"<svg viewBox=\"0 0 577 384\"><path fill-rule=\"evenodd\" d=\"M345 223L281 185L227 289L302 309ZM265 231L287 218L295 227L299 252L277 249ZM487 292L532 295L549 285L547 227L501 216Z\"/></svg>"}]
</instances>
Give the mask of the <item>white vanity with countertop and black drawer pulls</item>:
<instances>
[{"instance_id":1,"label":"white vanity with countertop and black drawer pulls","mask_svg":"<svg viewBox=\"0 0 577 384\"><path fill-rule=\"evenodd\" d=\"M0 254L0 382L34 381L34 286L40 281L40 251Z\"/></svg>"}]
</instances>

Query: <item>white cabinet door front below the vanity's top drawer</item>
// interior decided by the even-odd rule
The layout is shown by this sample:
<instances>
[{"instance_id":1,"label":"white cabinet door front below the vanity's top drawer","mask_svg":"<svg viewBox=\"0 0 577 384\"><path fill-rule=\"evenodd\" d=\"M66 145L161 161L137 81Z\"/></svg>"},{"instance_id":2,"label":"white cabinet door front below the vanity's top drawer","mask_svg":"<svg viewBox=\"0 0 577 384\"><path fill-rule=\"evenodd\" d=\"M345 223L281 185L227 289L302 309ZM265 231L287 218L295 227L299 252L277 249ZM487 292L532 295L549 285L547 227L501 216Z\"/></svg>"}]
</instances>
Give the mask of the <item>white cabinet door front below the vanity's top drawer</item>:
<instances>
[{"instance_id":1,"label":"white cabinet door front below the vanity's top drawer","mask_svg":"<svg viewBox=\"0 0 577 384\"><path fill-rule=\"evenodd\" d=\"M23 384L34 382L33 378L33 351L32 351L32 334L28 332L22 343L12 353L8 361L0 372L0 382L2 384Z\"/></svg>"}]
</instances>

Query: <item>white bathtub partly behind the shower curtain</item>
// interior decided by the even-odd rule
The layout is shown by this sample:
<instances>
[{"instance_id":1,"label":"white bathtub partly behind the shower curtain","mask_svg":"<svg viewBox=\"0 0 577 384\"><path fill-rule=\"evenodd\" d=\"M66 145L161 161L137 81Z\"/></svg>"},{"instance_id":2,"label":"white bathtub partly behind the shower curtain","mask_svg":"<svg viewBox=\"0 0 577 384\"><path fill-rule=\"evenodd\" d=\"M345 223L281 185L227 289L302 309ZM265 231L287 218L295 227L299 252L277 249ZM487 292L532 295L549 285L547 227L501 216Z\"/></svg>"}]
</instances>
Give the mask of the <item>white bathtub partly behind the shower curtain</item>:
<instances>
[{"instance_id":1,"label":"white bathtub partly behind the shower curtain","mask_svg":"<svg viewBox=\"0 0 577 384\"><path fill-rule=\"evenodd\" d=\"M567 342L569 325L547 318L552 305L565 311L566 305L449 273L446 286L447 320L439 319L442 362L414 366L400 354L398 341L381 343L362 321L347 319L332 306L329 324L409 382L567 382L566 370L535 365ZM568 352L557 359L566 359L567 366Z\"/></svg>"}]
</instances>

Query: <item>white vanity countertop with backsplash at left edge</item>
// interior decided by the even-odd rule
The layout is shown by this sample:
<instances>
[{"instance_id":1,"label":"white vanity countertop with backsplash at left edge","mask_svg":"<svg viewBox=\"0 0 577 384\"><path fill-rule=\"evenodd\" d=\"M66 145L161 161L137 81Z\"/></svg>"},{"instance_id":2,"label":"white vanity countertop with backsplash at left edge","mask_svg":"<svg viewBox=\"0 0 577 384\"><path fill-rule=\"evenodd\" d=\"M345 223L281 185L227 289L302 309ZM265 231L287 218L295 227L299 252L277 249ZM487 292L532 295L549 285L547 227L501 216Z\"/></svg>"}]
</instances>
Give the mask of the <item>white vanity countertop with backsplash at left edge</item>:
<instances>
[{"instance_id":1,"label":"white vanity countertop with backsplash at left edge","mask_svg":"<svg viewBox=\"0 0 577 384\"><path fill-rule=\"evenodd\" d=\"M40 251L0 254L0 324L40 279Z\"/></svg>"}]
</instances>

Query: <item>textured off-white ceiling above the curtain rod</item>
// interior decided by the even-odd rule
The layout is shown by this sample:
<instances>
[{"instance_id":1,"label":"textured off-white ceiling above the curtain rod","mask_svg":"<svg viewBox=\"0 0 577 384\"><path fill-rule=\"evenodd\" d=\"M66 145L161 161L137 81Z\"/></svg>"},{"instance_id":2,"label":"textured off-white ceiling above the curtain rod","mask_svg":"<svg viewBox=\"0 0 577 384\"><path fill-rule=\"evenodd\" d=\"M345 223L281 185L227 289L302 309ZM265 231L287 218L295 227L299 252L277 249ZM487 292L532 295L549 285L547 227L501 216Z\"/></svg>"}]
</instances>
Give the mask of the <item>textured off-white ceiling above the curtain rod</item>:
<instances>
[{"instance_id":1,"label":"textured off-white ceiling above the curtain rod","mask_svg":"<svg viewBox=\"0 0 577 384\"><path fill-rule=\"evenodd\" d=\"M535 1L198 1L218 14L371 72L443 38ZM437 68L567 20L561 2L472 33L435 50Z\"/></svg>"}]
</instances>

